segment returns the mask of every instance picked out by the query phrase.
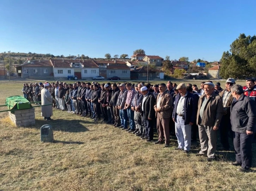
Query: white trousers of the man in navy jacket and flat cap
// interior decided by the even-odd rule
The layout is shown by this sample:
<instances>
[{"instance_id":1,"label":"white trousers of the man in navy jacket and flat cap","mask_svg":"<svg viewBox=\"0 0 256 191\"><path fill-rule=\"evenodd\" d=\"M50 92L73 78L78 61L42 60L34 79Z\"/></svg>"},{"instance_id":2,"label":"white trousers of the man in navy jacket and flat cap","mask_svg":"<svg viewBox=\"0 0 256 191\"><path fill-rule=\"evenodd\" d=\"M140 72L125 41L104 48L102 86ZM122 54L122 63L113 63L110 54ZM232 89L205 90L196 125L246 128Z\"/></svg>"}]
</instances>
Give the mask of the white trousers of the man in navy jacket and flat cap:
<instances>
[{"instance_id":1,"label":"white trousers of the man in navy jacket and flat cap","mask_svg":"<svg viewBox=\"0 0 256 191\"><path fill-rule=\"evenodd\" d=\"M184 119L181 116L176 116L175 119L175 134L178 139L178 147L185 151L190 151L191 146L191 125L184 125Z\"/></svg>"}]
</instances>

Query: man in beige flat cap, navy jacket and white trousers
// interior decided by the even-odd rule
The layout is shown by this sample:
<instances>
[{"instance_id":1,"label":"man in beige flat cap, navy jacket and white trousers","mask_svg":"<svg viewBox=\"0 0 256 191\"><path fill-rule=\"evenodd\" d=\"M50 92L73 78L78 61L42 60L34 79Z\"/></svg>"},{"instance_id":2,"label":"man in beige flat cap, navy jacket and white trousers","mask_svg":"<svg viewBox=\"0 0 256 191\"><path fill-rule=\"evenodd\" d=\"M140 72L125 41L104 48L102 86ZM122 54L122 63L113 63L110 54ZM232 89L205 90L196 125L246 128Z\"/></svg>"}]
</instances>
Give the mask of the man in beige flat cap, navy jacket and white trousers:
<instances>
[{"instance_id":1,"label":"man in beige flat cap, navy jacket and white trousers","mask_svg":"<svg viewBox=\"0 0 256 191\"><path fill-rule=\"evenodd\" d=\"M175 99L172 120L175 122L175 134L178 139L178 148L188 153L191 146L191 125L196 121L196 101L194 95L189 93L184 83L176 87L179 93Z\"/></svg>"}]
</instances>

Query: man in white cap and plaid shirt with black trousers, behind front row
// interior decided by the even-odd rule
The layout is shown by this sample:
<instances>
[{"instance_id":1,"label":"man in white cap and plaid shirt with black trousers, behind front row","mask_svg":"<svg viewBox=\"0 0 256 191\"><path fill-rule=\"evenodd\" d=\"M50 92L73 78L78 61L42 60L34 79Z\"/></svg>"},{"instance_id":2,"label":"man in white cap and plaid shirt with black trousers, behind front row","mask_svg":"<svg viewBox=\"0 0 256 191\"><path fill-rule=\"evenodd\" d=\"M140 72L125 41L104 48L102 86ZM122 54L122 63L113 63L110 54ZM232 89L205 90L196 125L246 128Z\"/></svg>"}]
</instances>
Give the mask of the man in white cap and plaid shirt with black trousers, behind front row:
<instances>
[{"instance_id":1,"label":"man in white cap and plaid shirt with black trousers, behind front row","mask_svg":"<svg viewBox=\"0 0 256 191\"><path fill-rule=\"evenodd\" d=\"M228 143L228 132L233 137L233 132L231 129L231 121L230 121L230 107L233 101L233 96L231 93L231 87L236 84L233 78L228 78L226 81L226 89L220 92L220 97L223 101L223 109L224 113L220 122L220 142L223 146L223 150L229 151L230 146Z\"/></svg>"}]
</instances>

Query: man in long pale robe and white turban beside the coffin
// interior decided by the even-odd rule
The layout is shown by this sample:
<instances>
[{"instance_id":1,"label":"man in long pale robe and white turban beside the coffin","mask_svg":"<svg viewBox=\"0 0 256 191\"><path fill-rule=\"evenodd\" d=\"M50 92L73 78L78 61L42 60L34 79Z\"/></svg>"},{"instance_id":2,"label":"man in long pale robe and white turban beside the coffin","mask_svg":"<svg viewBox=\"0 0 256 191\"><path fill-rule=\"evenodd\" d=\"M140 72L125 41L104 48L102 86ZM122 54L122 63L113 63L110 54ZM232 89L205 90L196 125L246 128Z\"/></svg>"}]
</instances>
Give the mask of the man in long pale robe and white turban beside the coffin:
<instances>
[{"instance_id":1,"label":"man in long pale robe and white turban beside the coffin","mask_svg":"<svg viewBox=\"0 0 256 191\"><path fill-rule=\"evenodd\" d=\"M47 121L53 120L51 119L51 116L53 115L53 107L51 106L53 98L51 97L51 94L48 89L49 89L49 83L45 83L44 88L41 91L41 100L42 100L41 116L43 116L44 119ZM47 106L43 106L43 105L47 105Z\"/></svg>"}]
</instances>

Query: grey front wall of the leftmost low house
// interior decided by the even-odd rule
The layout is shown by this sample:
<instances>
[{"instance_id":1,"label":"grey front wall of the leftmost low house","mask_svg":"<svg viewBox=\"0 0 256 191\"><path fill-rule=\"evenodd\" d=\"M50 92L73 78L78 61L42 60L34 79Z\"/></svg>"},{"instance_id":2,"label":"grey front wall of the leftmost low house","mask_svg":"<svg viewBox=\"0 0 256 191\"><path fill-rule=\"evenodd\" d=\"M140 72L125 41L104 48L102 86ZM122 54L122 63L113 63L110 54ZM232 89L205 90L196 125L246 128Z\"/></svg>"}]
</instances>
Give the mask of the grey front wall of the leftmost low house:
<instances>
[{"instance_id":1,"label":"grey front wall of the leftmost low house","mask_svg":"<svg viewBox=\"0 0 256 191\"><path fill-rule=\"evenodd\" d=\"M34 73L33 70L36 69L37 73ZM48 73L44 73L44 69L48 70ZM24 73L24 70L28 70L28 73ZM18 72L18 71L17 71ZM18 74L18 73L17 73ZM26 67L22 66L22 78L44 78L50 77L53 74L53 67Z\"/></svg>"}]
</instances>

